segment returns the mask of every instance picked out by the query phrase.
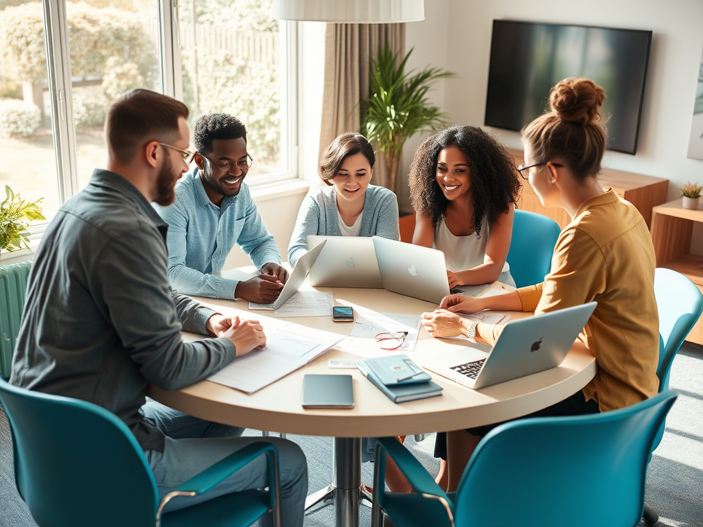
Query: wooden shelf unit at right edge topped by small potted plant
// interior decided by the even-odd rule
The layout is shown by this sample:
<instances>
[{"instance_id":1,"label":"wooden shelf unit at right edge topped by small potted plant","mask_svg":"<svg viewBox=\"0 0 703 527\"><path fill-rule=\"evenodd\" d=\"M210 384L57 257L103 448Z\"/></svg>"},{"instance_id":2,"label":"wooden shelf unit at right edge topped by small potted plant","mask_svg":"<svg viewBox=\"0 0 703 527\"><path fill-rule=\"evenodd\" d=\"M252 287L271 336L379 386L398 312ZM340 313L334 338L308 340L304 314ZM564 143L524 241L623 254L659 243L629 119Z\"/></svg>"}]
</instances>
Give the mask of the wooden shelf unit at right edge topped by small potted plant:
<instances>
[{"instance_id":1,"label":"wooden shelf unit at right edge topped by small potted plant","mask_svg":"<svg viewBox=\"0 0 703 527\"><path fill-rule=\"evenodd\" d=\"M703 256L690 253L693 223L703 223L703 205L684 209L681 198L652 209L652 244L657 267L685 275L703 292ZM698 320L686 340L703 344L703 321Z\"/></svg>"}]
</instances>

